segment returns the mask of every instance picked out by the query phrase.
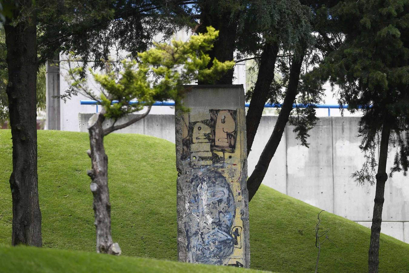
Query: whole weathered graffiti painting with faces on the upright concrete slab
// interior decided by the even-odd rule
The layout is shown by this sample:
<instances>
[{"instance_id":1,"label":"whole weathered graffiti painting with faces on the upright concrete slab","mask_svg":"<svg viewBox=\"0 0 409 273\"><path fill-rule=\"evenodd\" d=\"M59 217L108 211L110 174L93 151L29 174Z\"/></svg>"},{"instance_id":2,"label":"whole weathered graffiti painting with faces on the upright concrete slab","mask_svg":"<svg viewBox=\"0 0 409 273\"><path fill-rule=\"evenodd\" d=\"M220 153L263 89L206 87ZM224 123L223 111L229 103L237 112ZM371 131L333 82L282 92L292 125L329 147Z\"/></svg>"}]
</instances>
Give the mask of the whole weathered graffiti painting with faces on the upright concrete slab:
<instances>
[{"instance_id":1,"label":"whole weathered graffiti painting with faces on the upright concrete slab","mask_svg":"<svg viewBox=\"0 0 409 273\"><path fill-rule=\"evenodd\" d=\"M237 111L182 117L182 154L190 177L185 199L187 262L243 266L241 169L236 154ZM241 165L241 164L240 164Z\"/></svg>"}]
</instances>

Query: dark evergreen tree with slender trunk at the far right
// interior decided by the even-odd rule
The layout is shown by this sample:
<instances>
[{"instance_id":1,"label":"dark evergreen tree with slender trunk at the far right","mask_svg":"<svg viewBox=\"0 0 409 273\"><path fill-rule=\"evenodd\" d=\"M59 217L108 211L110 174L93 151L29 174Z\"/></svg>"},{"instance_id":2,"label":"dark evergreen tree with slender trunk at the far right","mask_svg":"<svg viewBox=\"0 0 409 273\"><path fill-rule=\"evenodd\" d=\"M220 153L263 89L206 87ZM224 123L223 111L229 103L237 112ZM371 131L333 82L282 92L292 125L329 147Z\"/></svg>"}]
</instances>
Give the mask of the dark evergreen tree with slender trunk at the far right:
<instances>
[{"instance_id":1,"label":"dark evergreen tree with slender trunk at the far right","mask_svg":"<svg viewBox=\"0 0 409 273\"><path fill-rule=\"evenodd\" d=\"M396 147L389 176L397 171L406 176L409 168L408 13L406 0L340 1L330 17L342 27L344 41L317 69L339 86L340 105L348 104L350 111L362 108L358 132L363 137L360 149L366 162L353 178L360 185L376 184L368 253L370 273L378 272L379 266L389 144Z\"/></svg>"}]
</instances>

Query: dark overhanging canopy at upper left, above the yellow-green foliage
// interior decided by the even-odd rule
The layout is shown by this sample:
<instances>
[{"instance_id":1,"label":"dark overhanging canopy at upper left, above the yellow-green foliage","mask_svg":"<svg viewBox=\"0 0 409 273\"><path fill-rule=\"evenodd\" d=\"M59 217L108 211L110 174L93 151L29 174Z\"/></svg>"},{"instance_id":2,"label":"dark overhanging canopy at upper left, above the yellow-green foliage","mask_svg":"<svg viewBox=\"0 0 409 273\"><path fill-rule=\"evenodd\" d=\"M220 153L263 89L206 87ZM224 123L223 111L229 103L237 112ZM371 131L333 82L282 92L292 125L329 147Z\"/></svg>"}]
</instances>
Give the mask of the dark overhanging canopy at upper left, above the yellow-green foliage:
<instances>
[{"instance_id":1,"label":"dark overhanging canopy at upper left, above the yellow-green foliage","mask_svg":"<svg viewBox=\"0 0 409 273\"><path fill-rule=\"evenodd\" d=\"M107 60L112 49L135 58L151 46L153 36L167 38L186 24L191 7L185 2L65 0L43 7L38 16L41 61L55 52L75 52L83 61L103 66L101 60ZM179 10L183 14L177 14Z\"/></svg>"}]
</instances>

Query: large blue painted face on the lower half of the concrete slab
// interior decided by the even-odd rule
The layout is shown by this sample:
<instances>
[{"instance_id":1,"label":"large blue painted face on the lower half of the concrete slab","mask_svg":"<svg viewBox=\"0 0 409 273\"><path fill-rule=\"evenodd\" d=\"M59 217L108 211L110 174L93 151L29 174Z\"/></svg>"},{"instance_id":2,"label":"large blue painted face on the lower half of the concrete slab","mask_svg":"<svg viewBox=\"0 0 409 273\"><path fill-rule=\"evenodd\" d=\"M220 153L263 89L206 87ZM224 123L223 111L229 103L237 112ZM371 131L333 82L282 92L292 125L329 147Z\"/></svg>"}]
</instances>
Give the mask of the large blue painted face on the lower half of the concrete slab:
<instances>
[{"instance_id":1,"label":"large blue painted face on the lower half of the concrete slab","mask_svg":"<svg viewBox=\"0 0 409 273\"><path fill-rule=\"evenodd\" d=\"M234 249L231 226L236 207L229 183L217 171L197 169L191 179L191 193L188 223L192 226L186 227L191 233L187 245L191 262L222 264Z\"/></svg>"}]
</instances>

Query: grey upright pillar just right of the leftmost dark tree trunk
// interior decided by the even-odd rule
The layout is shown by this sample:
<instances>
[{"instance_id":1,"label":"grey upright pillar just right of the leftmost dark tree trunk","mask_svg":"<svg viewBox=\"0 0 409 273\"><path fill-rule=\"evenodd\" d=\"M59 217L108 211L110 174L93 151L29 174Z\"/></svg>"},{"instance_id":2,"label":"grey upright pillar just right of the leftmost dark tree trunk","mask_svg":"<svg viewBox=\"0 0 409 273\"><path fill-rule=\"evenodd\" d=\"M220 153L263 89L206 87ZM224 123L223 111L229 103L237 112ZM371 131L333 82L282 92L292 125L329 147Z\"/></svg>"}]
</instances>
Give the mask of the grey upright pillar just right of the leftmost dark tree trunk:
<instances>
[{"instance_id":1,"label":"grey upright pillar just right of the leftmost dark tree trunk","mask_svg":"<svg viewBox=\"0 0 409 273\"><path fill-rule=\"evenodd\" d=\"M47 111L47 130L60 130L60 99L53 96L60 95L60 55L48 61L45 66L45 93Z\"/></svg>"}]
</instances>

